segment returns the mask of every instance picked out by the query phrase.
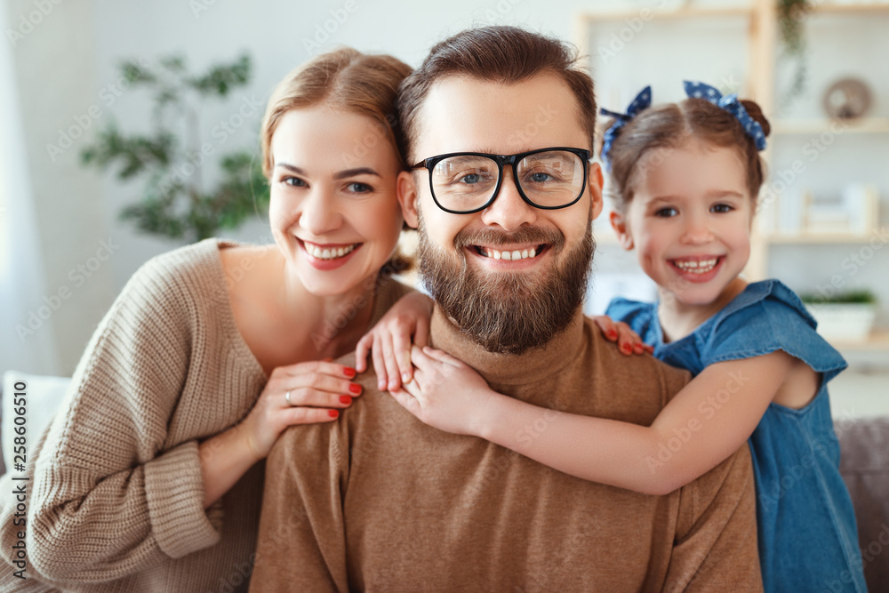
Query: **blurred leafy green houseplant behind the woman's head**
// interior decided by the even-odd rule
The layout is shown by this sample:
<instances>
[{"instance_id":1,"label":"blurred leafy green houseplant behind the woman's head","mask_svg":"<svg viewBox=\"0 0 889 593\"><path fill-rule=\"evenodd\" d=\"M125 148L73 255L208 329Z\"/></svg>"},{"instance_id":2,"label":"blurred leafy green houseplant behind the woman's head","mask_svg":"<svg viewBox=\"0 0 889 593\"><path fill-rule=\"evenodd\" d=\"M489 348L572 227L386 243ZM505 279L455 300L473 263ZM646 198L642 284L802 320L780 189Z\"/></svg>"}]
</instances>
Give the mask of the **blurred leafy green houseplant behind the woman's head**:
<instances>
[{"instance_id":1,"label":"blurred leafy green houseplant behind the woman's head","mask_svg":"<svg viewBox=\"0 0 889 593\"><path fill-rule=\"evenodd\" d=\"M144 180L140 201L124 208L121 218L146 233L197 241L259 214L268 206L260 159L244 151L219 154L222 134L228 139L228 130L236 126L214 128L211 141L201 137L199 125L207 101L225 99L249 82L250 57L244 54L200 75L188 73L180 56L164 57L153 66L143 63L126 61L120 69L132 88L152 94L149 132L123 132L111 121L81 152L86 166L116 166L118 179ZM261 108L255 101L242 101L247 102L254 113ZM243 108L229 122L244 124ZM218 164L220 177L207 190L203 177L211 163Z\"/></svg>"}]
</instances>

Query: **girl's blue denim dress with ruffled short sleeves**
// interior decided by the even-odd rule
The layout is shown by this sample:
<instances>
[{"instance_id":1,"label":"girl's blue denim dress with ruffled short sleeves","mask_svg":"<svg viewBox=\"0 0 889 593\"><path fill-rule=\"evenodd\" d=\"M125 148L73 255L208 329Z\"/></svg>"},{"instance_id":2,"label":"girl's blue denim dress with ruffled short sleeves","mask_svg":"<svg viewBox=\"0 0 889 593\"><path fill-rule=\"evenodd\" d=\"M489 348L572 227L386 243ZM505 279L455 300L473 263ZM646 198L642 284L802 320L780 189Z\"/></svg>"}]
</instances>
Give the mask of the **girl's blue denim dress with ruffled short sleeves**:
<instances>
[{"instance_id":1,"label":"girl's blue denim dress with ruffled short sleeves","mask_svg":"<svg viewBox=\"0 0 889 593\"><path fill-rule=\"evenodd\" d=\"M866 592L827 389L846 364L815 332L797 294L778 280L749 284L693 333L669 343L662 340L657 308L657 303L614 299L605 314L630 325L654 347L655 357L694 375L714 363L776 350L821 373L812 402L799 410L770 404L749 439L763 582L769 593Z\"/></svg>"}]
</instances>

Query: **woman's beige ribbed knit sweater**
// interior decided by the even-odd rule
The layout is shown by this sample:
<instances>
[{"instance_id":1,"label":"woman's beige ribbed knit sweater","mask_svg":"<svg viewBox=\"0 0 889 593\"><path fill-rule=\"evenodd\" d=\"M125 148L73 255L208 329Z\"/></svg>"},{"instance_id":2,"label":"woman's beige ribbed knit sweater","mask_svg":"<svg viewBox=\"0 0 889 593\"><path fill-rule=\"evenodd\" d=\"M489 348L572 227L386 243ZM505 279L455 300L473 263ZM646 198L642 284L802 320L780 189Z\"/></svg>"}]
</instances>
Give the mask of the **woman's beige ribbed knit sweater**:
<instances>
[{"instance_id":1,"label":"woman's beige ribbed knit sweater","mask_svg":"<svg viewBox=\"0 0 889 593\"><path fill-rule=\"evenodd\" d=\"M241 421L267 381L207 239L149 260L89 342L43 438L29 435L28 571L0 590L232 591L252 571L264 463L204 511L198 443ZM406 289L381 284L373 318ZM296 361L294 361L296 362ZM17 474L18 475L18 474ZM0 478L8 565L11 476ZM36 588L39 590L39 588Z\"/></svg>"}]
</instances>

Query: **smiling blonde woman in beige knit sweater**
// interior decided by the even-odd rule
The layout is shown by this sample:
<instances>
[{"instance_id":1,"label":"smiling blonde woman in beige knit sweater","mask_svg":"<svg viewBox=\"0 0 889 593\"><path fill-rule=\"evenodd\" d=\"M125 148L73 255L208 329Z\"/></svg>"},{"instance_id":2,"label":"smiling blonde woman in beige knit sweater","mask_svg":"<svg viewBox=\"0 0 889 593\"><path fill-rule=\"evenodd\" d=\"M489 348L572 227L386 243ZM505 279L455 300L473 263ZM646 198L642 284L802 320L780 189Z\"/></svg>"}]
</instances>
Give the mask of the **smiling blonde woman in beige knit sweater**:
<instances>
[{"instance_id":1,"label":"smiling blonde woman in beige knit sweater","mask_svg":"<svg viewBox=\"0 0 889 593\"><path fill-rule=\"evenodd\" d=\"M409 72L343 49L286 76L262 124L275 244L209 239L125 286L35 442L28 576L91 591L244 583L259 461L286 427L333 421L360 395L354 369L323 359L407 292L380 267L403 226L390 123ZM12 562L22 528L2 500Z\"/></svg>"}]
</instances>

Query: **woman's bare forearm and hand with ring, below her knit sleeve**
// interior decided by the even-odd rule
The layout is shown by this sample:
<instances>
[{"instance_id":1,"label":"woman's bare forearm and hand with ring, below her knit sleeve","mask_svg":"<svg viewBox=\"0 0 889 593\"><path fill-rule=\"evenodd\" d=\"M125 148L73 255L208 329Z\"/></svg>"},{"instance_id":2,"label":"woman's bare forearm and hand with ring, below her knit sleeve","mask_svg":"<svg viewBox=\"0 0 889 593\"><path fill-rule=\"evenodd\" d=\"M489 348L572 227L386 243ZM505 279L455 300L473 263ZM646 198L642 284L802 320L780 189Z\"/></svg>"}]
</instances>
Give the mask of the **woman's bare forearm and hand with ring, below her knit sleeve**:
<instances>
[{"instance_id":1,"label":"woman's bare forearm and hand with ring, below her knit sleeve","mask_svg":"<svg viewBox=\"0 0 889 593\"><path fill-rule=\"evenodd\" d=\"M253 464L268 456L288 426L336 420L360 386L355 369L328 361L279 366L253 409L236 426L201 443L204 509L227 493ZM286 394L290 391L290 404ZM358 393L356 393L356 391Z\"/></svg>"}]
</instances>

